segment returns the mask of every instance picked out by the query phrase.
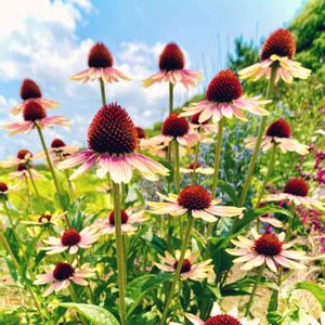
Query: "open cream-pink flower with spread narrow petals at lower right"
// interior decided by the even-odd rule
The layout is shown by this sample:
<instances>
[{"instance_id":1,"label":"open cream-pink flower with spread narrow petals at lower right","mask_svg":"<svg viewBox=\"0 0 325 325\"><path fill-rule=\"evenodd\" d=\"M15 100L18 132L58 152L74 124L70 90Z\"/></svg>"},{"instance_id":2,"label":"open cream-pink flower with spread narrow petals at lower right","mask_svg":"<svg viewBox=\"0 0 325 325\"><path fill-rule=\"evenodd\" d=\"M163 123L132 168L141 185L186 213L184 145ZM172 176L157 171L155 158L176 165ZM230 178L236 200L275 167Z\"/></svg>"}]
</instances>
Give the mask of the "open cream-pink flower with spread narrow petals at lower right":
<instances>
[{"instance_id":1,"label":"open cream-pink flower with spread narrow petals at lower right","mask_svg":"<svg viewBox=\"0 0 325 325\"><path fill-rule=\"evenodd\" d=\"M266 263L268 268L277 272L276 264L288 269L304 269L294 260L304 259L304 251L288 250L291 244L284 243L285 233L276 235L266 233L259 235L255 230L251 231L253 240L238 236L237 240L231 240L238 248L229 248L226 252L238 258L234 259L234 263L244 263L242 270L251 270Z\"/></svg>"}]
</instances>

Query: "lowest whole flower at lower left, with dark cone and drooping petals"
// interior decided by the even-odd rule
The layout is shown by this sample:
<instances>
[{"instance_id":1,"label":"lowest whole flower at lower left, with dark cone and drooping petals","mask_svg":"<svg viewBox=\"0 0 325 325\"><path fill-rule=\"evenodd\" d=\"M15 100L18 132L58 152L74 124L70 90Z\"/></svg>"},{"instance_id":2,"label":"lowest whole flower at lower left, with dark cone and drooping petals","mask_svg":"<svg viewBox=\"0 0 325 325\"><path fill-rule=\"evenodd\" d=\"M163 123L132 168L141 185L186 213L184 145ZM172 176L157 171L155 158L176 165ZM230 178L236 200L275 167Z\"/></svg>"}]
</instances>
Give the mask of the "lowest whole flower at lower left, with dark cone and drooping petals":
<instances>
[{"instance_id":1,"label":"lowest whole flower at lower left, with dark cone and drooping petals","mask_svg":"<svg viewBox=\"0 0 325 325\"><path fill-rule=\"evenodd\" d=\"M49 296L53 291L58 292L67 288L70 282L79 286L87 286L88 282L84 278L92 276L94 276L94 271L90 269L88 264L78 268L76 261L73 264L60 262L55 265L51 265L51 269L46 274L37 275L37 280L34 284L51 284L44 291L44 296Z\"/></svg>"}]
</instances>

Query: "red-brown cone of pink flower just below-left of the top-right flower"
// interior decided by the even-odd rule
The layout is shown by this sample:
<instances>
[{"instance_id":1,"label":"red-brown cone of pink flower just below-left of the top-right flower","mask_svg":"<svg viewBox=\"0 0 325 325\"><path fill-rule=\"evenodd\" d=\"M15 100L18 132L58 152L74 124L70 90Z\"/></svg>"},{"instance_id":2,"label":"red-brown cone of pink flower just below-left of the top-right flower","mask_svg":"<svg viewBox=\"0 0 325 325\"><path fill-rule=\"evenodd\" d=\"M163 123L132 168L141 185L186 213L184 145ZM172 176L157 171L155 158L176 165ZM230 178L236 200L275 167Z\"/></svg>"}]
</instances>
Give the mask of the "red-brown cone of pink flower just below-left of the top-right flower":
<instances>
[{"instance_id":1,"label":"red-brown cone of pink flower just below-left of the top-right flower","mask_svg":"<svg viewBox=\"0 0 325 325\"><path fill-rule=\"evenodd\" d=\"M221 70L209 83L207 100L210 102L226 103L242 96L243 89L238 77L232 70Z\"/></svg>"}]
</instances>

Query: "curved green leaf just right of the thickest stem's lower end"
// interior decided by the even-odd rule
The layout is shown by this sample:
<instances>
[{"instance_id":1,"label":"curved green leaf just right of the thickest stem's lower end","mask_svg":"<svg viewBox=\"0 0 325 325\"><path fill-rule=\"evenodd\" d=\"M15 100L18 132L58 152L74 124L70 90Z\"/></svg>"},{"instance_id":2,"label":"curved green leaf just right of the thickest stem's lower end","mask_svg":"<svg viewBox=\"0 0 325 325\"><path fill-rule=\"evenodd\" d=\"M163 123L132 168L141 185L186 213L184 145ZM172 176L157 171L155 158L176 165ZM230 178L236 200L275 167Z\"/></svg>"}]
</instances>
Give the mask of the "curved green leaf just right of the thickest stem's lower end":
<instances>
[{"instance_id":1,"label":"curved green leaf just right of the thickest stem's lower end","mask_svg":"<svg viewBox=\"0 0 325 325\"><path fill-rule=\"evenodd\" d=\"M133 312L150 290L167 281L170 281L171 278L171 273L161 273L146 274L131 281L127 286L127 298L132 301L128 309L128 316Z\"/></svg>"}]
</instances>

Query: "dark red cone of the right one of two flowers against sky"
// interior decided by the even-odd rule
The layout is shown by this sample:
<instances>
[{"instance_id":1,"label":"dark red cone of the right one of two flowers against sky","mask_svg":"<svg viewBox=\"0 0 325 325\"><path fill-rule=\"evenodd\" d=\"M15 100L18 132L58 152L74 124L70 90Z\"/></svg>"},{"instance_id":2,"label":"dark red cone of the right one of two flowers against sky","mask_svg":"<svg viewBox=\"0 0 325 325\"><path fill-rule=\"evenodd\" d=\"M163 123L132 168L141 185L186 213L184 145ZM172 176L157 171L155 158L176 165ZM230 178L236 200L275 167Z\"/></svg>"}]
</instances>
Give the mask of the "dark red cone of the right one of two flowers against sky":
<instances>
[{"instance_id":1,"label":"dark red cone of the right one of two flowers against sky","mask_svg":"<svg viewBox=\"0 0 325 325\"><path fill-rule=\"evenodd\" d=\"M159 57L160 70L181 70L184 68L185 58L177 43L170 42L162 50Z\"/></svg>"}]
</instances>

